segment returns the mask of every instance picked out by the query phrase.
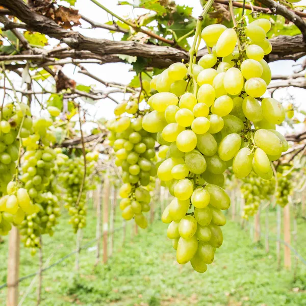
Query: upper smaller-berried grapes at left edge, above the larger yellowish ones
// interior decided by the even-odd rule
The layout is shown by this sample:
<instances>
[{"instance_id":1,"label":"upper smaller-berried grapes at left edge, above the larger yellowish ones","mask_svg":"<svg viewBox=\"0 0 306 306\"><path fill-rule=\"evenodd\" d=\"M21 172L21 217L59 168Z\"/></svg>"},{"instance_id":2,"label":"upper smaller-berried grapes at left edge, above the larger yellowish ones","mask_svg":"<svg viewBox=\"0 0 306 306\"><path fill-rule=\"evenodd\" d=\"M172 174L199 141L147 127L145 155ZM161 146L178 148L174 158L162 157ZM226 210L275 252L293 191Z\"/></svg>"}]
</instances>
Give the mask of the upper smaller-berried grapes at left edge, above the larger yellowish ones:
<instances>
[{"instance_id":1,"label":"upper smaller-berried grapes at left edge, above the larger yellowish ones","mask_svg":"<svg viewBox=\"0 0 306 306\"><path fill-rule=\"evenodd\" d=\"M0 116L0 193L6 194L7 185L16 172L20 144L19 139L16 139L18 132L20 130L20 138L28 137L32 118L30 108L23 103L6 104Z\"/></svg>"}]
</instances>

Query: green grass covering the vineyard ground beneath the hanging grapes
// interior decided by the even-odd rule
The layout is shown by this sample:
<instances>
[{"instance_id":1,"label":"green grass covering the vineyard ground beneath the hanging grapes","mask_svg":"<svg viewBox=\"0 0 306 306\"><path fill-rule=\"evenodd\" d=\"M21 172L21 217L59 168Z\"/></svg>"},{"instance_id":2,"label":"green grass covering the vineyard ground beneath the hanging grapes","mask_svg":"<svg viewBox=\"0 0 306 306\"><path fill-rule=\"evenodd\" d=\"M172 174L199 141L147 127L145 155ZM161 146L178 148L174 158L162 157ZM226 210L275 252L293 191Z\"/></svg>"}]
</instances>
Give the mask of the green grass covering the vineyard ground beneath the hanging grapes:
<instances>
[{"instance_id":1,"label":"green grass covering the vineyard ground beneath the hanging grapes","mask_svg":"<svg viewBox=\"0 0 306 306\"><path fill-rule=\"evenodd\" d=\"M270 231L274 233L275 215L269 213ZM44 237L44 261L53 255L50 264L75 248L75 236L66 222L64 216L55 236ZM166 224L156 221L131 239L132 224L127 224L124 247L122 231L116 232L113 256L107 265L99 264L93 269L95 251L85 249L81 252L79 273L74 270L74 256L46 271L41 305L297 306L306 303L306 266L299 263L296 281L292 271L277 271L275 242L271 241L270 253L266 254L262 244L253 244L249 231L241 230L238 223L229 221L224 226L224 243L205 274L194 272L189 264L176 263L175 251L166 238ZM115 227L121 225L117 215ZM300 220L298 229L298 251L306 258L306 222ZM95 215L90 212L82 244L94 237ZM7 239L0 248L0 282L4 283ZM37 268L38 256L32 258L29 250L21 247L20 276ZM20 296L31 281L32 278L20 283ZM35 305L36 286L37 282L23 305ZM5 304L6 290L0 291L0 305Z\"/></svg>"}]
</instances>

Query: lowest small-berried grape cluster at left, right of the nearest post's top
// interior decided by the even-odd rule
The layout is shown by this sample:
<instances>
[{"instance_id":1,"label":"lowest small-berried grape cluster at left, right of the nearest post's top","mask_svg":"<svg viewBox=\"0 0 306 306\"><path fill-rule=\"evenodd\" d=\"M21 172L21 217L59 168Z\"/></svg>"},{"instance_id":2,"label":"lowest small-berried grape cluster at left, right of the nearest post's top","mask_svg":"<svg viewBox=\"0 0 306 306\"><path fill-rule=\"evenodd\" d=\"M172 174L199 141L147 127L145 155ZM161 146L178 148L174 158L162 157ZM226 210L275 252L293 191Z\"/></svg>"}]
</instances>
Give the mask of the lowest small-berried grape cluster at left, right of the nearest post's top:
<instances>
[{"instance_id":1,"label":"lowest small-berried grape cluster at left, right of the nearest post's top","mask_svg":"<svg viewBox=\"0 0 306 306\"><path fill-rule=\"evenodd\" d=\"M40 247L39 237L43 234L53 236L57 218L61 215L59 200L52 192L40 193L35 202L39 211L28 215L19 226L21 241L25 247L31 248L33 256Z\"/></svg>"}]
</instances>

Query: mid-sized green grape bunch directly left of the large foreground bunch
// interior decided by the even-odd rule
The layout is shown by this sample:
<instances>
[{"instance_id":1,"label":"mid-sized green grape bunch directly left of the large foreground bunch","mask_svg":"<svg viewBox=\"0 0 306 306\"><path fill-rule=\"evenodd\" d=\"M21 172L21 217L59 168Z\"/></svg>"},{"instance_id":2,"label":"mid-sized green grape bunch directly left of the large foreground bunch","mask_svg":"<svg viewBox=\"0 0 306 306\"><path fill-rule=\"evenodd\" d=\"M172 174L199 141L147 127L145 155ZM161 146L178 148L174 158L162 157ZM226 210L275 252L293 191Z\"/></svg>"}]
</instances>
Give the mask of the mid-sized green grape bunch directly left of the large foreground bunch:
<instances>
[{"instance_id":1,"label":"mid-sized green grape bunch directly left of the large foreground bunch","mask_svg":"<svg viewBox=\"0 0 306 306\"><path fill-rule=\"evenodd\" d=\"M145 228L147 220L143 213L150 210L151 200L148 185L151 177L157 174L155 138L142 128L142 116L123 116L128 107L124 104L115 109L115 114L120 117L108 123L108 139L115 151L115 165L122 169L124 184L119 189L122 217L125 220L134 217L136 224Z\"/></svg>"}]
</instances>

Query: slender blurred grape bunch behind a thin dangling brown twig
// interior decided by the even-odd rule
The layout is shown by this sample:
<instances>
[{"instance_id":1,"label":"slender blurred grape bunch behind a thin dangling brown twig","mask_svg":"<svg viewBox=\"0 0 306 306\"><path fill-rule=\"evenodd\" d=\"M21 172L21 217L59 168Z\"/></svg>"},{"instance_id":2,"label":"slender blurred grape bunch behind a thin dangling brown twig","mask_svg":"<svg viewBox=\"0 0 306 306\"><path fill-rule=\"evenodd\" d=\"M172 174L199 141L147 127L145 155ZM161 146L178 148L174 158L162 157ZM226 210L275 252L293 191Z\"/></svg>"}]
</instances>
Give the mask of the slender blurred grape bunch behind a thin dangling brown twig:
<instances>
[{"instance_id":1,"label":"slender blurred grape bunch behind a thin dangling brown twig","mask_svg":"<svg viewBox=\"0 0 306 306\"><path fill-rule=\"evenodd\" d=\"M94 162L98 158L97 155L94 155L93 159L91 154L89 156L90 158L86 157L86 159L91 161L86 163L86 177L78 205L77 202L84 177L84 158L83 156L67 157L66 162L60 167L59 180L64 188L64 207L71 216L69 223L72 225L74 233L77 233L79 228L86 226L86 194L91 189L89 175L93 170Z\"/></svg>"}]
</instances>

